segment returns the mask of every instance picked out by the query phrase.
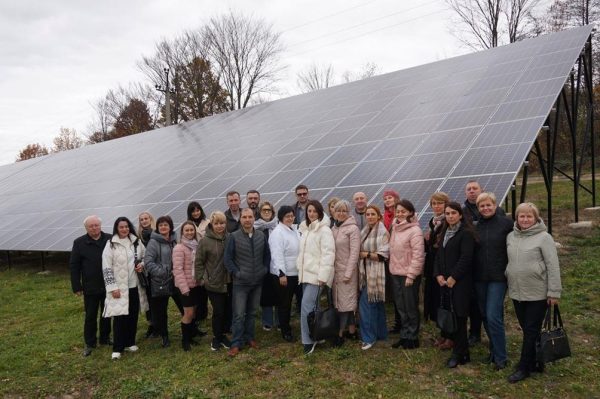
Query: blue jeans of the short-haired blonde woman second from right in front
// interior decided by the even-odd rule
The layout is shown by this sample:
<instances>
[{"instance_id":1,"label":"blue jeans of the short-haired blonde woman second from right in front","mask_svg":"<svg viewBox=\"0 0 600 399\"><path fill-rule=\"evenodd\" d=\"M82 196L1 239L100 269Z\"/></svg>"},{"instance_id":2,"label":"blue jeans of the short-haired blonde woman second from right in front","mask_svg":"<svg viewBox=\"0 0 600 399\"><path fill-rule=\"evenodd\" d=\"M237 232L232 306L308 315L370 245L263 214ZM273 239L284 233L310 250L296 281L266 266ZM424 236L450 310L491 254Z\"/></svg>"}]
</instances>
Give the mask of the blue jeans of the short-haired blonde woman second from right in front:
<instances>
[{"instance_id":1,"label":"blue jeans of the short-haired blonde woman second from right in front","mask_svg":"<svg viewBox=\"0 0 600 399\"><path fill-rule=\"evenodd\" d=\"M485 332L490 339L490 353L496 364L504 363L506 334L504 332L504 295L506 283L502 281L475 282L477 302L483 318Z\"/></svg>"}]
</instances>

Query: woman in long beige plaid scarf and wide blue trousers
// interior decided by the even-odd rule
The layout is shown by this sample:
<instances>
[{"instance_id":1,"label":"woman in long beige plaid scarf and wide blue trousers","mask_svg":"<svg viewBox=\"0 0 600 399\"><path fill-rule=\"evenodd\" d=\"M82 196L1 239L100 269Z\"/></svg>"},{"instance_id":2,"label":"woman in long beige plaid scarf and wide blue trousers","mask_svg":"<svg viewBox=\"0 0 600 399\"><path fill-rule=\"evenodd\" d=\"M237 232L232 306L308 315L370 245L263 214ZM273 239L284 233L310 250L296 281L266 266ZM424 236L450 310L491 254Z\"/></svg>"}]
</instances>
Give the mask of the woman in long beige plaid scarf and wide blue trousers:
<instances>
[{"instance_id":1,"label":"woman in long beige plaid scarf and wide blue trousers","mask_svg":"<svg viewBox=\"0 0 600 399\"><path fill-rule=\"evenodd\" d=\"M378 340L387 339L385 320L385 263L390 255L390 234L383 225L381 211L368 205L367 225L360 233L359 254L359 313L363 350Z\"/></svg>"}]
</instances>

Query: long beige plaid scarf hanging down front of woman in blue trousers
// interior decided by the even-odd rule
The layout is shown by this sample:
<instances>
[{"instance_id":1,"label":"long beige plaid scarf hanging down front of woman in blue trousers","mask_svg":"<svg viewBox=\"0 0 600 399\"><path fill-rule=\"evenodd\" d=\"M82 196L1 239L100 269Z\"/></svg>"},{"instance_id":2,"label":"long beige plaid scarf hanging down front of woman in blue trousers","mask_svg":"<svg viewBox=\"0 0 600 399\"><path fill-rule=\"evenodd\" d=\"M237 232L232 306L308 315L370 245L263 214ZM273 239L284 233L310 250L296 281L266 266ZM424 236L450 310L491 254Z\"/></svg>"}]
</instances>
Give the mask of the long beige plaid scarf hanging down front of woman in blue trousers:
<instances>
[{"instance_id":1,"label":"long beige plaid scarf hanging down front of woman in blue trousers","mask_svg":"<svg viewBox=\"0 0 600 399\"><path fill-rule=\"evenodd\" d=\"M363 252L372 252L384 258L390 256L390 234L381 222L373 228L365 226L361 233L361 248ZM370 303L385 300L385 265L382 261L370 258L361 259L358 266L359 287L367 289Z\"/></svg>"}]
</instances>

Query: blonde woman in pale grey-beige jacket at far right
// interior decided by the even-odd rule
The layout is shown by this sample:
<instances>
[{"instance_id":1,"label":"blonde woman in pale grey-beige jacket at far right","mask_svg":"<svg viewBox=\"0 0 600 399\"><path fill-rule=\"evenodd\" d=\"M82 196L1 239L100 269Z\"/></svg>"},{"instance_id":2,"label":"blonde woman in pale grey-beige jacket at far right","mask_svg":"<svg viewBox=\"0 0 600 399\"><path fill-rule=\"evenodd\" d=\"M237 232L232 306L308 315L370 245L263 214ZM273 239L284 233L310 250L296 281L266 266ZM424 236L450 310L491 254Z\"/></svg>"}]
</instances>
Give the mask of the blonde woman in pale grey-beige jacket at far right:
<instances>
[{"instance_id":1,"label":"blonde woman in pale grey-beige jacket at far right","mask_svg":"<svg viewBox=\"0 0 600 399\"><path fill-rule=\"evenodd\" d=\"M558 304L562 291L556 245L537 207L523 203L515 214L517 220L506 239L506 277L508 296L523 330L523 344L517 370L508 377L511 383L524 380L532 371L544 370L543 364L536 364L535 343L548 305Z\"/></svg>"}]
</instances>

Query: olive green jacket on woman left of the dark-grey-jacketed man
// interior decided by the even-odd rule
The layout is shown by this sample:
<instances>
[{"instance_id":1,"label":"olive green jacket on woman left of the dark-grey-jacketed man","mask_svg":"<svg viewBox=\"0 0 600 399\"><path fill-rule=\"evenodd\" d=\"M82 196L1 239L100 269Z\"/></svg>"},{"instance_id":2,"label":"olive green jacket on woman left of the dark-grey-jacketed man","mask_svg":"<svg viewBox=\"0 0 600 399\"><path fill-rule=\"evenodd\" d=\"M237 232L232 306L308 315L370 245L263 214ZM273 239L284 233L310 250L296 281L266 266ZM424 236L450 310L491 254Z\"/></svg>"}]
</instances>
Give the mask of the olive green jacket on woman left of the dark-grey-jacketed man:
<instances>
[{"instance_id":1,"label":"olive green jacket on woman left of the dark-grey-jacketed man","mask_svg":"<svg viewBox=\"0 0 600 399\"><path fill-rule=\"evenodd\" d=\"M204 288L211 292L227 292L227 283L231 276L225 268L225 237L217 237L212 225L206 228L206 235L200 240L196 249L194 262L195 276L198 282L204 282Z\"/></svg>"}]
</instances>

